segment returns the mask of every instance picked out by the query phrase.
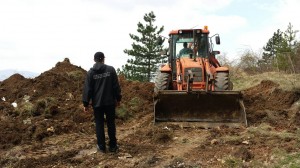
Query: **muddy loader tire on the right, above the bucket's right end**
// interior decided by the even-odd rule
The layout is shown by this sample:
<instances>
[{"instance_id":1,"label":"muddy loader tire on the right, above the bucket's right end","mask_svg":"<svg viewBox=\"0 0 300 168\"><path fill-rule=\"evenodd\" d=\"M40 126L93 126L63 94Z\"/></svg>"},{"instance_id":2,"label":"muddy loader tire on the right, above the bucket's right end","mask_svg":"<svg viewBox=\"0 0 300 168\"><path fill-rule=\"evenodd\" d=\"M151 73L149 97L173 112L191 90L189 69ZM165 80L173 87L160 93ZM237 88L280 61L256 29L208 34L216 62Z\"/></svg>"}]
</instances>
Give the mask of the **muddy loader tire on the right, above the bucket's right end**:
<instances>
[{"instance_id":1,"label":"muddy loader tire on the right, above the bucket's right end","mask_svg":"<svg viewBox=\"0 0 300 168\"><path fill-rule=\"evenodd\" d=\"M228 72L217 72L215 78L215 91L232 90L232 82L229 81Z\"/></svg>"}]
</instances>

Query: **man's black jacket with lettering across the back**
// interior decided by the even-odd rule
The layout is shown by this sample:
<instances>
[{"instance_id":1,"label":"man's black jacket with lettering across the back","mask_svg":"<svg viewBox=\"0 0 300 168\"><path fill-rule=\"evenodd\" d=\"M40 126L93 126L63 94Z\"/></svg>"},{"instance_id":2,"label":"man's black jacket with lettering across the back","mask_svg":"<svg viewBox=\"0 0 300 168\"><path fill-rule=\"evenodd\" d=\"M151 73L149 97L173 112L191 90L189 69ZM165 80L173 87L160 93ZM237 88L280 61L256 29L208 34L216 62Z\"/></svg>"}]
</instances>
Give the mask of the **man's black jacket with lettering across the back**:
<instances>
[{"instance_id":1,"label":"man's black jacket with lettering across the back","mask_svg":"<svg viewBox=\"0 0 300 168\"><path fill-rule=\"evenodd\" d=\"M83 105L87 107L90 100L94 108L115 105L116 101L121 101L121 98L121 88L115 68L99 62L95 63L85 79Z\"/></svg>"}]
</instances>

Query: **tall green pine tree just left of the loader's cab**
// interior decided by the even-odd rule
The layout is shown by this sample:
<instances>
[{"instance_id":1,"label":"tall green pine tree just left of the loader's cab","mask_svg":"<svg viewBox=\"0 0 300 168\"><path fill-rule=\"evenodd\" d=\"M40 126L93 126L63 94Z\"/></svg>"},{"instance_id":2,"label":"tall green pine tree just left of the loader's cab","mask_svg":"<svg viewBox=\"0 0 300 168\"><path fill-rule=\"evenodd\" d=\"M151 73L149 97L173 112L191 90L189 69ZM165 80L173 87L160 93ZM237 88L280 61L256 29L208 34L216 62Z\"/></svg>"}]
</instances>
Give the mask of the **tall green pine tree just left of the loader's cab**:
<instances>
[{"instance_id":1,"label":"tall green pine tree just left of the loader's cab","mask_svg":"<svg viewBox=\"0 0 300 168\"><path fill-rule=\"evenodd\" d=\"M158 29L154 26L156 16L151 11L144 15L144 24L137 24L137 32L139 35L129 34L134 40L132 49L125 49L124 53L131 58L127 60L127 64L122 66L122 70L118 70L119 74L123 74L126 79L138 81L151 81L154 73L157 71L158 64L166 57L160 55L163 46L157 44L160 33L164 27Z\"/></svg>"}]
</instances>

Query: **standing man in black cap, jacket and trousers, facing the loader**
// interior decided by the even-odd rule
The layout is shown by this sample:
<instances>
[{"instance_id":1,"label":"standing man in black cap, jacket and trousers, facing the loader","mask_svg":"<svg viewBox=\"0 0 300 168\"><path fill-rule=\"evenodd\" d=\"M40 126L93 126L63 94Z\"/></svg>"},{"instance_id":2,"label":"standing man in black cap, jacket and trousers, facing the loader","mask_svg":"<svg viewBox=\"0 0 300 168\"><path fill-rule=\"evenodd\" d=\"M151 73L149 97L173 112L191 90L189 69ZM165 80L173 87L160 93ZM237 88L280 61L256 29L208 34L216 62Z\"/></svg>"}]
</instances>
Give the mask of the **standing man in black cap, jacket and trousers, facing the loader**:
<instances>
[{"instance_id":1,"label":"standing man in black cap, jacket and trousers, facing the loader","mask_svg":"<svg viewBox=\"0 0 300 168\"><path fill-rule=\"evenodd\" d=\"M118 149L116 139L115 115L116 106L120 105L122 98L121 88L115 68L104 64L104 54L96 52L94 55L94 66L88 71L82 102L84 112L89 111L89 103L92 100L94 117L96 123L96 136L98 150L106 152L104 114L106 116L109 137L109 151L116 152Z\"/></svg>"}]
</instances>

